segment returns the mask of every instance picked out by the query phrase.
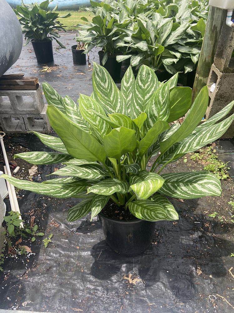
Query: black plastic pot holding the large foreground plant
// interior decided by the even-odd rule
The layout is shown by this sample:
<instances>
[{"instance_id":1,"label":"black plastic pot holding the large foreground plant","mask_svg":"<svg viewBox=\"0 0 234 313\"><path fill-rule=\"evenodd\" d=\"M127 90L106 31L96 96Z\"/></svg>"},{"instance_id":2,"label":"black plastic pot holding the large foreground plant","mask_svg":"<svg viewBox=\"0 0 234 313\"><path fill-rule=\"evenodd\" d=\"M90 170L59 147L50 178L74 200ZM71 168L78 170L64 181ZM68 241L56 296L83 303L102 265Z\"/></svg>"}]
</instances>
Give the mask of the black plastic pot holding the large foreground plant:
<instances>
[{"instance_id":1,"label":"black plastic pot holding the large foreground plant","mask_svg":"<svg viewBox=\"0 0 234 313\"><path fill-rule=\"evenodd\" d=\"M152 242L155 222L140 219L121 221L98 214L107 244L116 252L125 255L137 255L149 247Z\"/></svg>"}]
</instances>

